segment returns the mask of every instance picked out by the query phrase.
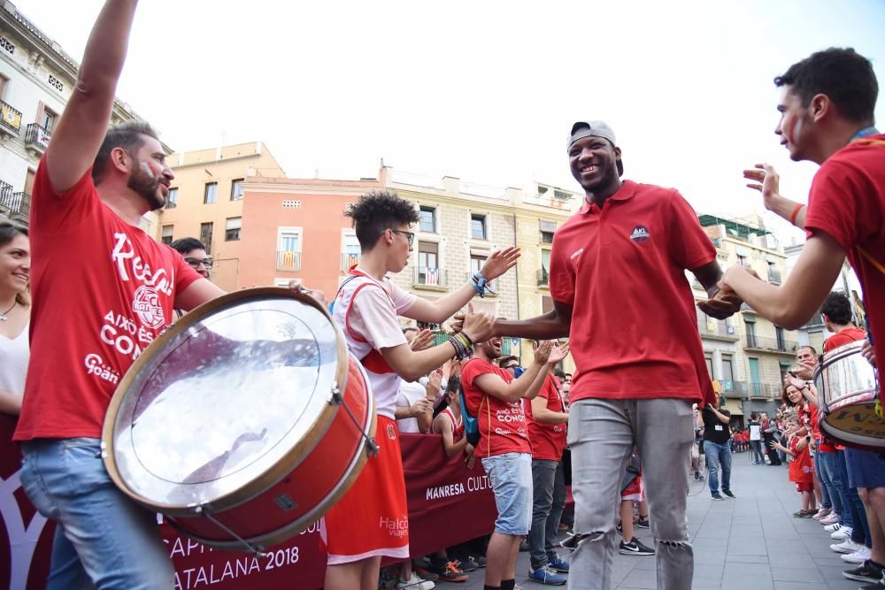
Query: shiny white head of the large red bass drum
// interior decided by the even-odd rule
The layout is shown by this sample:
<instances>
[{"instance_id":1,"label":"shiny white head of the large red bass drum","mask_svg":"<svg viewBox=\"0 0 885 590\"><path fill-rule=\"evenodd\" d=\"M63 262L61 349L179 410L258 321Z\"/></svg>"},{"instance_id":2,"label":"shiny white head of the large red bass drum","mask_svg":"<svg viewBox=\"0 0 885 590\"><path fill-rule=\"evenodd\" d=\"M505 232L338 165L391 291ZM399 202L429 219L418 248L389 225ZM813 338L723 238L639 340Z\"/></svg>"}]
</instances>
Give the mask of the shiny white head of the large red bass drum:
<instances>
[{"instance_id":1,"label":"shiny white head of the large red bass drum","mask_svg":"<svg viewBox=\"0 0 885 590\"><path fill-rule=\"evenodd\" d=\"M289 289L206 303L121 381L104 425L108 471L127 494L170 514L245 502L325 432L346 358L326 310Z\"/></svg>"}]
</instances>

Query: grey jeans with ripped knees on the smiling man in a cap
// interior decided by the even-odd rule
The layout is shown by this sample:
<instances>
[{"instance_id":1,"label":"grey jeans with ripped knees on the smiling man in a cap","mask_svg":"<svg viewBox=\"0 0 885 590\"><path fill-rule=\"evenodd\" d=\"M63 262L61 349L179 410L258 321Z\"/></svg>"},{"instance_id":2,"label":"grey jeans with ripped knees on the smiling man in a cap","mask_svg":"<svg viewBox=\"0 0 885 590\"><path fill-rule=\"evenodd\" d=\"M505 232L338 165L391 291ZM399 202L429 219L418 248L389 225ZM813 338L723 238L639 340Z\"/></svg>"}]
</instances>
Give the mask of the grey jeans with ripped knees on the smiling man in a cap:
<instances>
[{"instance_id":1,"label":"grey jeans with ripped knees on the smiling man in a cap","mask_svg":"<svg viewBox=\"0 0 885 590\"><path fill-rule=\"evenodd\" d=\"M643 462L658 588L689 590L694 554L685 517L692 442L686 400L581 400L569 410L574 532L568 587L607 590L612 585L620 484L634 445Z\"/></svg>"}]
</instances>

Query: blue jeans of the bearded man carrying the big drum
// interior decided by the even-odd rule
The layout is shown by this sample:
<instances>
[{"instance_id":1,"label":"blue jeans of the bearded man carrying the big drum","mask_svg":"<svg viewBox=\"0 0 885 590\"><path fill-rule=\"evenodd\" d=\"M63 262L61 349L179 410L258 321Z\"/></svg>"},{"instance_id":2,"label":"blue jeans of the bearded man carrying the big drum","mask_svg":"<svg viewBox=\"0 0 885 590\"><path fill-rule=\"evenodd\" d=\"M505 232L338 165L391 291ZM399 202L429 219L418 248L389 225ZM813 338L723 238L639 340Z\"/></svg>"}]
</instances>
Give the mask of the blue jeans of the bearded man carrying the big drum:
<instances>
[{"instance_id":1,"label":"blue jeans of the bearded man carrying the big drum","mask_svg":"<svg viewBox=\"0 0 885 590\"><path fill-rule=\"evenodd\" d=\"M21 484L35 508L57 521L48 590L89 586L173 587L172 561L157 517L113 484L98 439L39 439L21 445Z\"/></svg>"}]
</instances>

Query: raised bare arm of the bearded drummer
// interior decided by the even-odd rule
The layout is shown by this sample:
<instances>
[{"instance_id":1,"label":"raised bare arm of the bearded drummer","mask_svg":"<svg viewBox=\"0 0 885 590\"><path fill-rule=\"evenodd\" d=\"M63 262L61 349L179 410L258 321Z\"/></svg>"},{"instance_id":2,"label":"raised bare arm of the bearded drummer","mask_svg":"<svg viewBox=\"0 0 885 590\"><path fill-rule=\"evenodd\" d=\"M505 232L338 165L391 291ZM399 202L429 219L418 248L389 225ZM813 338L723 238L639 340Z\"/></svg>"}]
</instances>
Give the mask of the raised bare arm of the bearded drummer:
<instances>
[{"instance_id":1,"label":"raised bare arm of the bearded drummer","mask_svg":"<svg viewBox=\"0 0 885 590\"><path fill-rule=\"evenodd\" d=\"M107 0L89 34L77 84L46 149L52 188L73 187L96 159L111 122L137 0Z\"/></svg>"}]
</instances>

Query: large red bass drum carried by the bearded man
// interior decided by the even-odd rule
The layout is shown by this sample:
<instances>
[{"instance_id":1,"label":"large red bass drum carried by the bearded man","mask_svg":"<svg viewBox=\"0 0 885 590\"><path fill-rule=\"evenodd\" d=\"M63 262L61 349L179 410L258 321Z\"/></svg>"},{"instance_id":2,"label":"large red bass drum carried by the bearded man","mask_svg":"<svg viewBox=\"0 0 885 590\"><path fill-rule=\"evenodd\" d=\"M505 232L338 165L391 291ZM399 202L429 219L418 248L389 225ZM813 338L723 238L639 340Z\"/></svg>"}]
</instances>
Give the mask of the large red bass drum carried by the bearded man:
<instances>
[{"instance_id":1,"label":"large red bass drum carried by the bearded man","mask_svg":"<svg viewBox=\"0 0 885 590\"><path fill-rule=\"evenodd\" d=\"M104 420L104 464L135 502L206 545L300 533L373 452L368 379L319 303L285 288L201 305L144 350Z\"/></svg>"}]
</instances>

